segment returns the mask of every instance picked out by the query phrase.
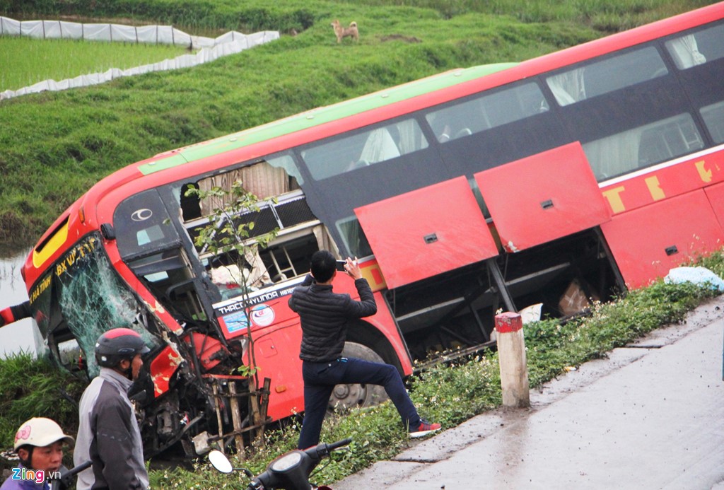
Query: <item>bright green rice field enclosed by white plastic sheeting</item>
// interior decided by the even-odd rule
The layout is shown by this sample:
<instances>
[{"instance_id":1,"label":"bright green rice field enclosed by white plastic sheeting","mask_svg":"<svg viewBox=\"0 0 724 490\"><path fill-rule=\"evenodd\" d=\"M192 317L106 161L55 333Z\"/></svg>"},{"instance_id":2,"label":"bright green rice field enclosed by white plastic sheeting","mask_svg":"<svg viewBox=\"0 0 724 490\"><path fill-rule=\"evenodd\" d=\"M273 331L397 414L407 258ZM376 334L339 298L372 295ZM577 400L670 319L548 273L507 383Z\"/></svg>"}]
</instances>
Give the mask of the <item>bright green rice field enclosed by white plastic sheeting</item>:
<instances>
[{"instance_id":1,"label":"bright green rice field enclosed by white plastic sheeting","mask_svg":"<svg viewBox=\"0 0 724 490\"><path fill-rule=\"evenodd\" d=\"M105 43L67 39L38 40L0 37L0 92L18 90L43 80L65 80L79 75L127 69L161 62L182 54L185 48L164 44Z\"/></svg>"}]
</instances>

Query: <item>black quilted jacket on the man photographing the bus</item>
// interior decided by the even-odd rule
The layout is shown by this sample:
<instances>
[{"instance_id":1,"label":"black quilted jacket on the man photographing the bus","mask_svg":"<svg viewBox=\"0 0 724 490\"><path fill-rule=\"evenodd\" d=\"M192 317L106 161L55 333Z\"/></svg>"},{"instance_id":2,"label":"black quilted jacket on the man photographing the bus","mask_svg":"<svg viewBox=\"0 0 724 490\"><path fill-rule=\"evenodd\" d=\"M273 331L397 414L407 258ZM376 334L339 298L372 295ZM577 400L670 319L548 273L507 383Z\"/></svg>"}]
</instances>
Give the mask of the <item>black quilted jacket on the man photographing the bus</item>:
<instances>
[{"instance_id":1,"label":"black quilted jacket on the man photographing the bus","mask_svg":"<svg viewBox=\"0 0 724 490\"><path fill-rule=\"evenodd\" d=\"M360 300L332 292L332 285L313 282L312 276L292 292L289 307L299 313L302 322L302 347L299 357L316 363L334 360L342 355L350 319L377 313L367 279L356 279Z\"/></svg>"}]
</instances>

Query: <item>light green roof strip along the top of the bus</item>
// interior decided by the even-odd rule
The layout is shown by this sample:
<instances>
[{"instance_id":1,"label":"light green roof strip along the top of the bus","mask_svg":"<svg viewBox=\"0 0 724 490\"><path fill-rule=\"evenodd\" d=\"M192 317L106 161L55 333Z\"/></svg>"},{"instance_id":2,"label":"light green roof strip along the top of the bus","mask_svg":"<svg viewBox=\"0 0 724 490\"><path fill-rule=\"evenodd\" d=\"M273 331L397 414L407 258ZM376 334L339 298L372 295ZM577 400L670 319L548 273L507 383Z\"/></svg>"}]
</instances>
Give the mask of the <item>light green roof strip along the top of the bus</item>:
<instances>
[{"instance_id":1,"label":"light green roof strip along the top of the bus","mask_svg":"<svg viewBox=\"0 0 724 490\"><path fill-rule=\"evenodd\" d=\"M354 116L355 114L388 106L408 98L431 93L435 90L452 87L453 85L465 83L479 77L484 77L485 75L500 72L506 68L514 67L516 64L517 63L497 63L450 70L449 72L426 77L422 80L397 85L396 87L380 90L379 92L353 98L338 104L332 104L331 106L311 109L302 114L279 119L279 121L269 122L248 130L225 135L221 138L198 143L188 148L182 148L172 156L143 164L139 166L138 169L144 175L171 169L174 166L214 156L224 151L231 151L261 141L271 140L272 138L288 135L292 132L306 130L310 127L319 126L320 124Z\"/></svg>"}]
</instances>

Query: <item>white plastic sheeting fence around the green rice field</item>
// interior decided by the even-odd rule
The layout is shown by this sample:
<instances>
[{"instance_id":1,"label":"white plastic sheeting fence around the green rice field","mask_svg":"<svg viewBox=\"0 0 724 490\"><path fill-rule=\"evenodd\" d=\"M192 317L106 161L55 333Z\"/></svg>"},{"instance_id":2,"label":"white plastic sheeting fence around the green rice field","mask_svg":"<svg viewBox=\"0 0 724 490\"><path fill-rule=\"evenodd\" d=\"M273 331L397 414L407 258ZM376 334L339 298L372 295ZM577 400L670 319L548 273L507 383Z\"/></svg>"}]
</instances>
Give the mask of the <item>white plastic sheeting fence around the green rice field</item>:
<instances>
[{"instance_id":1,"label":"white plastic sheeting fence around the green rice field","mask_svg":"<svg viewBox=\"0 0 724 490\"><path fill-rule=\"evenodd\" d=\"M6 98L24 96L28 93L38 93L45 90L67 90L69 88L85 87L106 83L114 78L130 77L148 72L159 72L167 69L194 67L197 64L212 62L222 56L236 54L253 46L268 43L279 39L279 32L265 30L253 34L243 34L232 31L218 38L204 38L188 35L168 25L144 25L134 27L117 24L79 24L77 22L62 22L59 20L30 20L20 22L0 16L0 35L25 35L38 39L84 39L86 41L118 41L125 43L152 43L173 44L175 46L188 46L193 49L201 48L196 54L184 54L174 59L164 59L162 62L145 64L129 69L111 68L103 73L80 75L56 82L44 80L20 90L5 90L0 92L0 101Z\"/></svg>"}]
</instances>

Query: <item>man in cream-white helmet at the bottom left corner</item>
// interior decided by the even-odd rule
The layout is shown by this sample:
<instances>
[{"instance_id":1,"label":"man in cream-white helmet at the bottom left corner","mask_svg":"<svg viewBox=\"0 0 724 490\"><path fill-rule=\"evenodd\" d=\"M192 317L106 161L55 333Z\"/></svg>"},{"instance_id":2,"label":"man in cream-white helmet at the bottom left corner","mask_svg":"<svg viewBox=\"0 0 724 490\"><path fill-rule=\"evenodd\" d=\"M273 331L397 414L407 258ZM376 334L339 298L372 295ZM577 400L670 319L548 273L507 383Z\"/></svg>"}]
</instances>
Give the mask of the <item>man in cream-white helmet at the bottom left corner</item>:
<instances>
[{"instance_id":1,"label":"man in cream-white helmet at the bottom left corner","mask_svg":"<svg viewBox=\"0 0 724 490\"><path fill-rule=\"evenodd\" d=\"M22 423L15 433L14 444L20 465L12 469L0 490L49 490L49 475L62 466L63 444L73 442L74 439L49 418L35 417Z\"/></svg>"}]
</instances>

